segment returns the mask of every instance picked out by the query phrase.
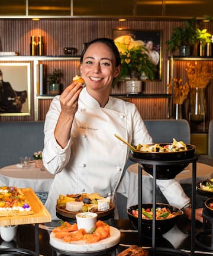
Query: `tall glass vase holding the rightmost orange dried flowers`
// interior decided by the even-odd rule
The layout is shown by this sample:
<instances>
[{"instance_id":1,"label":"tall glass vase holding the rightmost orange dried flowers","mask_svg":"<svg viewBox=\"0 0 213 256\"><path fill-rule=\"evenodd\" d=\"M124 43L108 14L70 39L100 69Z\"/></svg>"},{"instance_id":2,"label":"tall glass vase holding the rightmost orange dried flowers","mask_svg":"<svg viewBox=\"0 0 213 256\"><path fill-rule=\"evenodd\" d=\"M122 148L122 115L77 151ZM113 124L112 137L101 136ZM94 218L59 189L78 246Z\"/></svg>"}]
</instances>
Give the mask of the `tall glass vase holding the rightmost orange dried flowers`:
<instances>
[{"instance_id":1,"label":"tall glass vase holding the rightmost orange dried flowers","mask_svg":"<svg viewBox=\"0 0 213 256\"><path fill-rule=\"evenodd\" d=\"M206 116L206 95L205 88L191 88L190 89L190 111L189 120L202 123Z\"/></svg>"}]
</instances>

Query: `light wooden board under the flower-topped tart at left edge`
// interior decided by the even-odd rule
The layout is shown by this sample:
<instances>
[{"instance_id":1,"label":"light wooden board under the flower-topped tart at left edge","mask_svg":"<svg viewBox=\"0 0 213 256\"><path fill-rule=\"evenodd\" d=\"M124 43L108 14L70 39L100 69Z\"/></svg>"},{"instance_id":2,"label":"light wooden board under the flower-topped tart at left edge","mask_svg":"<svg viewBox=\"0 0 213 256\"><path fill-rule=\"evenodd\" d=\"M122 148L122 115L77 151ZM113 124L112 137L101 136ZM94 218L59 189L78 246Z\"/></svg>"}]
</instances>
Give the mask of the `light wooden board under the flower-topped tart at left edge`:
<instances>
[{"instance_id":1,"label":"light wooden board under the flower-topped tart at left edge","mask_svg":"<svg viewBox=\"0 0 213 256\"><path fill-rule=\"evenodd\" d=\"M51 222L51 215L38 199L32 188L21 188L34 214L26 216L0 217L0 226Z\"/></svg>"}]
</instances>

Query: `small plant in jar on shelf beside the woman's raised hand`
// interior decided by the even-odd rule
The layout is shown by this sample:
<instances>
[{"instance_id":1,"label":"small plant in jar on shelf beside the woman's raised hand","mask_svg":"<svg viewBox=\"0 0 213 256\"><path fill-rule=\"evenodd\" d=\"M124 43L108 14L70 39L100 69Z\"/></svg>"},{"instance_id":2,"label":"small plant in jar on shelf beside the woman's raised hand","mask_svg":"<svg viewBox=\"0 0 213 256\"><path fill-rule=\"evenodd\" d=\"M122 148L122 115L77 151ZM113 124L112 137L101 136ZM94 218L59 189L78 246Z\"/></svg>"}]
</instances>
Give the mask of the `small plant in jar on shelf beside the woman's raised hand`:
<instances>
[{"instance_id":1,"label":"small plant in jar on shelf beside the woman's raised hand","mask_svg":"<svg viewBox=\"0 0 213 256\"><path fill-rule=\"evenodd\" d=\"M60 69L53 69L53 73L47 74L47 82L49 83L48 94L60 94L60 78L62 71Z\"/></svg>"}]
</instances>

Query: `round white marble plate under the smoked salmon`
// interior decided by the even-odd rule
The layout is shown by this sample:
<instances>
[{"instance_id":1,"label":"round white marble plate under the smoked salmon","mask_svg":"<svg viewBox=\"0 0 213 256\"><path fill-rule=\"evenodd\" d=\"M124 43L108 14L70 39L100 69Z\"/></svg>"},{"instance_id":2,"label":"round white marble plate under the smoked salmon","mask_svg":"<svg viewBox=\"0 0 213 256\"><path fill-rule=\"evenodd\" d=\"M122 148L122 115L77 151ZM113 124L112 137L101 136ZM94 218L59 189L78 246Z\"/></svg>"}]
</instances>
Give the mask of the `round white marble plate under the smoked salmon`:
<instances>
[{"instance_id":1,"label":"round white marble plate under the smoked salmon","mask_svg":"<svg viewBox=\"0 0 213 256\"><path fill-rule=\"evenodd\" d=\"M50 245L54 248L69 252L91 252L108 249L117 245L121 238L121 232L118 229L110 226L109 232L110 236L108 238L102 239L101 241L92 244L86 244L86 242L83 240L75 242L64 242L61 239L55 238L54 233L51 232Z\"/></svg>"}]
</instances>

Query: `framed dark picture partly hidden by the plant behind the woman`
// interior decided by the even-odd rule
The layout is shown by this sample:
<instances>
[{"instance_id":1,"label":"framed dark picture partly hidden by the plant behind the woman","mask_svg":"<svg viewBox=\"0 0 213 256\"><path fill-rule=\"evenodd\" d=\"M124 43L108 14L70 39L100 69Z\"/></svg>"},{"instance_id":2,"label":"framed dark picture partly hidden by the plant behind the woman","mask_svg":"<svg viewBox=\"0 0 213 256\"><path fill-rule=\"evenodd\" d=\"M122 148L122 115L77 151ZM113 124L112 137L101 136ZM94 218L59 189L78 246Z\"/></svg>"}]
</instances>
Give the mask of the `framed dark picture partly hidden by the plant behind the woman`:
<instances>
[{"instance_id":1,"label":"framed dark picture partly hidden by the plant behind the woman","mask_svg":"<svg viewBox=\"0 0 213 256\"><path fill-rule=\"evenodd\" d=\"M162 74L162 31L161 30L113 30L112 38L120 43L138 41L149 52L151 61L156 65L154 80L160 80Z\"/></svg>"}]
</instances>

